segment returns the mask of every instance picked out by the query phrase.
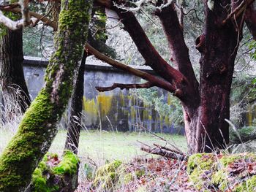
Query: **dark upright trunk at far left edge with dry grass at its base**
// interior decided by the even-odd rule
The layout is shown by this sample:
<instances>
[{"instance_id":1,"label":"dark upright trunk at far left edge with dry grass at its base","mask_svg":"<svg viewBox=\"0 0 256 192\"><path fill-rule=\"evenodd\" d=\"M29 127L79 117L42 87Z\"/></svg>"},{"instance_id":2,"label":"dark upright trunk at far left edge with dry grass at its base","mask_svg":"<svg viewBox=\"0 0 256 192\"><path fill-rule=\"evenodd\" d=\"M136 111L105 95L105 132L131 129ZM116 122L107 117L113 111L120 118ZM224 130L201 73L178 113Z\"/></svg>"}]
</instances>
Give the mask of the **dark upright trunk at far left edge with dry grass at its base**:
<instances>
[{"instance_id":1,"label":"dark upright trunk at far left edge with dry grass at its base","mask_svg":"<svg viewBox=\"0 0 256 192\"><path fill-rule=\"evenodd\" d=\"M23 30L4 28L6 34L0 38L0 82L4 109L8 119L23 113L29 107L29 91L23 74Z\"/></svg>"}]
</instances>

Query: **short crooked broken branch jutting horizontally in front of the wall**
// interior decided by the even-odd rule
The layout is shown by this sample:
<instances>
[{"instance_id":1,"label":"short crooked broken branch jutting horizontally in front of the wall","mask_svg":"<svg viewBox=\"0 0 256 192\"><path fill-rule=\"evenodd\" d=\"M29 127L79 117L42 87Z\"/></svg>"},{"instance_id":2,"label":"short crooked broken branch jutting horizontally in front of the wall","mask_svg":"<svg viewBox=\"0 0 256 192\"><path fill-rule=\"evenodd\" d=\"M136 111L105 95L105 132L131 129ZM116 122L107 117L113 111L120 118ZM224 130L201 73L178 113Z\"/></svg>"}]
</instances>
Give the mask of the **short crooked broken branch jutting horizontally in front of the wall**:
<instances>
[{"instance_id":1,"label":"short crooked broken branch jutting horizontally in front of the wall","mask_svg":"<svg viewBox=\"0 0 256 192\"><path fill-rule=\"evenodd\" d=\"M146 83L141 83L141 84L137 84L137 83L133 83L133 84L114 83L110 87L95 87L95 88L99 92L105 92L105 91L112 91L115 88L121 88L121 89L136 88L137 89L137 88L151 88L151 87L154 87L154 84L151 83L151 82L146 82Z\"/></svg>"}]
</instances>

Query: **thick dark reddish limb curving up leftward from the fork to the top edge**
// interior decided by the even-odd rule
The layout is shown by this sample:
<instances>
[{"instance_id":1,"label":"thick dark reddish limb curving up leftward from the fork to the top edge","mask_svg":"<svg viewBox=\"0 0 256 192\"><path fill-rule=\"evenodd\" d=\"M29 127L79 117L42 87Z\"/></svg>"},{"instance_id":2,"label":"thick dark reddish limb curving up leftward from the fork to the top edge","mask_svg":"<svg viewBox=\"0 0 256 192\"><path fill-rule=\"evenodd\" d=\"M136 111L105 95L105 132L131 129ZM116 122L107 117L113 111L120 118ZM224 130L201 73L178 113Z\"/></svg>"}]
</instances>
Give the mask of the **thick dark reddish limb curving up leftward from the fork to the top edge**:
<instances>
[{"instance_id":1,"label":"thick dark reddish limb curving up leftward from the fork to the top edge","mask_svg":"<svg viewBox=\"0 0 256 192\"><path fill-rule=\"evenodd\" d=\"M99 0L97 0L97 3L101 4ZM118 6L115 6L114 4ZM101 5L103 7L105 6L104 4ZM121 8L123 6L124 5L121 5L121 2L117 0L113 0L111 5L108 4L108 8L115 11L120 18L121 23L124 24L124 30L126 30L130 37L132 37L140 54L145 59L146 65L151 66L154 72L167 82L170 82L178 92L182 92L182 98L179 97L179 99L181 99L184 104L190 103L196 106L198 104L198 100L195 101L198 97L197 88L195 89L195 86L189 82L186 75L174 69L161 57L161 55L159 55L146 36L145 31L143 31L143 28L140 26L140 23L135 18L135 15L131 11ZM165 4L165 6L167 6L167 4Z\"/></svg>"}]
</instances>

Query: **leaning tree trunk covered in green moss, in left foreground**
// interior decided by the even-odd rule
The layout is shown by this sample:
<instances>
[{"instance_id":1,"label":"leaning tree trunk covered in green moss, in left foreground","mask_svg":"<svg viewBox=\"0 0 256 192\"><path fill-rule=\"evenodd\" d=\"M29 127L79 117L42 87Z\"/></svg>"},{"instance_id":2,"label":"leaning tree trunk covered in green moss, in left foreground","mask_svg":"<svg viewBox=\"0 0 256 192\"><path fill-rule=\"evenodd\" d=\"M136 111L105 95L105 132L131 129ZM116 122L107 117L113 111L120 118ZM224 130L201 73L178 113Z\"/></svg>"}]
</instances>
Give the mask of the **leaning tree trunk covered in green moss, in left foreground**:
<instances>
[{"instance_id":1,"label":"leaning tree trunk covered in green moss, in left foreground","mask_svg":"<svg viewBox=\"0 0 256 192\"><path fill-rule=\"evenodd\" d=\"M0 157L0 191L24 191L31 174L48 151L72 93L90 20L89 0L62 0L56 51L45 74L45 86L31 103Z\"/></svg>"}]
</instances>

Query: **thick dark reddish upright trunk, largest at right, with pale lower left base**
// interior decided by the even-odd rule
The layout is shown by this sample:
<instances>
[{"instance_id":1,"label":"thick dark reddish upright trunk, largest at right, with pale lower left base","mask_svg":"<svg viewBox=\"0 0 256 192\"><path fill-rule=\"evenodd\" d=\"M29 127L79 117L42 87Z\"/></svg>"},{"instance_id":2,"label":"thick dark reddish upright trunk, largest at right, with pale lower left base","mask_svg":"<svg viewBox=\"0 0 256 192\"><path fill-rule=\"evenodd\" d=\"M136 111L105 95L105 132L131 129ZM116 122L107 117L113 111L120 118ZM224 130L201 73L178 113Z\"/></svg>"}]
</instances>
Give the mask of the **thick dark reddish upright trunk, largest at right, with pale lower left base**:
<instances>
[{"instance_id":1,"label":"thick dark reddish upright trunk, largest at right, with pale lower left base","mask_svg":"<svg viewBox=\"0 0 256 192\"><path fill-rule=\"evenodd\" d=\"M205 12L204 31L196 42L202 55L200 106L190 108L195 115L187 118L186 111L184 115L189 153L212 152L229 143L229 125L225 119L230 118L230 89L241 39L241 29L234 23L222 25L222 20L227 18L223 5L216 3L214 11L206 5ZM241 20L236 22L241 25Z\"/></svg>"}]
</instances>

